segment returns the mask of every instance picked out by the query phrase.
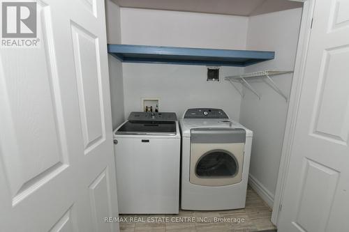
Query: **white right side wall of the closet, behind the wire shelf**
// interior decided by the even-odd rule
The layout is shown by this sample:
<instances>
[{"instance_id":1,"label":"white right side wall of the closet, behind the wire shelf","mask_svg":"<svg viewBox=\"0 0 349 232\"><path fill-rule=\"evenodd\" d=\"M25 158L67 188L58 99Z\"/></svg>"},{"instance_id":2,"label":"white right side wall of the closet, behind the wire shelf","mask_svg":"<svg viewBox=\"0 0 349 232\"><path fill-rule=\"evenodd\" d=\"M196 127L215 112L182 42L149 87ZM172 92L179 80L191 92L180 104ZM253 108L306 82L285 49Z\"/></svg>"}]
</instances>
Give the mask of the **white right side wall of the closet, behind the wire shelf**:
<instances>
[{"instance_id":1,"label":"white right side wall of the closet, behind the wire shelf","mask_svg":"<svg viewBox=\"0 0 349 232\"><path fill-rule=\"evenodd\" d=\"M275 59L246 67L245 72L266 69L293 70L301 14L302 9L297 8L250 17L246 48L275 51ZM284 93L290 94L292 74L272 79ZM262 97L258 100L251 91L244 88L240 123L254 133L250 165L251 183L260 188L261 194L265 194L270 202L274 201L279 174L288 103L265 82L255 79L251 85Z\"/></svg>"}]
</instances>

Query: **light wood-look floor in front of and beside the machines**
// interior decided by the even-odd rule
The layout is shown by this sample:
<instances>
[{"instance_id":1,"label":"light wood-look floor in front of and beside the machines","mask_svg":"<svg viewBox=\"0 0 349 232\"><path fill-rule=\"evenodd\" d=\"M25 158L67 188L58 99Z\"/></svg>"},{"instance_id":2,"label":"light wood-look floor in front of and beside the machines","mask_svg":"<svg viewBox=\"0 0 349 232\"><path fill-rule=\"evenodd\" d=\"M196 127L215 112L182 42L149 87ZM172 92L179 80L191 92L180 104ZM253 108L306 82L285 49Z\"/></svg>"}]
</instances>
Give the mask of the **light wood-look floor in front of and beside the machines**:
<instances>
[{"instance_id":1,"label":"light wood-look floor in front of and beside the machines","mask_svg":"<svg viewBox=\"0 0 349 232\"><path fill-rule=\"evenodd\" d=\"M120 223L120 231L123 232L252 232L276 229L270 222L272 209L251 187L247 189L246 208L244 209L179 210L179 215L120 215L119 217L125 221ZM191 222L177 222L179 220L190 220Z\"/></svg>"}]
</instances>

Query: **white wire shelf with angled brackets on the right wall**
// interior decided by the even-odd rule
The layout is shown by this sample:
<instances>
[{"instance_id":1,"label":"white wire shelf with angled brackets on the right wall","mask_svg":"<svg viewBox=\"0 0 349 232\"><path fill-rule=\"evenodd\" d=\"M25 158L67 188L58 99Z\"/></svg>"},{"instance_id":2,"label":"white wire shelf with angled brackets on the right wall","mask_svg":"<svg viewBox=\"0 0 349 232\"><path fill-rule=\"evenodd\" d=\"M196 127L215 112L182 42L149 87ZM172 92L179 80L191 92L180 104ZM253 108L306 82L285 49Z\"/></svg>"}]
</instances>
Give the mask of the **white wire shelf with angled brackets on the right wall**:
<instances>
[{"instance_id":1,"label":"white wire shelf with angled brackets on the right wall","mask_svg":"<svg viewBox=\"0 0 349 232\"><path fill-rule=\"evenodd\" d=\"M237 88L237 86L235 85L234 82L240 82L243 86L245 86L250 91L252 91L255 95L257 95L257 97L260 99L260 94L257 91L255 91L255 89L251 86L251 84L249 84L246 81L246 78L248 78L248 77L266 77L267 79L269 79L269 82L272 84L272 88L274 89L274 91L276 91L276 93L279 93L283 98L285 98L285 100L287 102L288 101L287 96L285 95L285 93L283 93L281 91L281 89L276 85L276 83L273 81L273 79L270 78L270 76L283 75L283 74L287 74L287 73L291 73L291 72L293 72L293 71L263 70L263 71L258 71L258 72L249 72L249 73L245 73L242 75L229 76L229 77L225 77L225 79L228 80L235 87L235 89L239 92L239 94L242 96L242 98L244 98L244 93L242 93L242 91L240 91L239 88Z\"/></svg>"}]
</instances>

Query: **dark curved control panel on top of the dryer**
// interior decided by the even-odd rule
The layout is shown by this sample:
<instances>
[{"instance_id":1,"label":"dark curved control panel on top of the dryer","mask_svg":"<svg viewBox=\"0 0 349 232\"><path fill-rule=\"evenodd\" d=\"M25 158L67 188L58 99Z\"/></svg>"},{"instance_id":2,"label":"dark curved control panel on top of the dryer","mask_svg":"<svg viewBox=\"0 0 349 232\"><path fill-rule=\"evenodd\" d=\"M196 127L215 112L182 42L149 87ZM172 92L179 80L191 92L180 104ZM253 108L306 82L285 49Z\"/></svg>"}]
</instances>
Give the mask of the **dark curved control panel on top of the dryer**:
<instances>
[{"instance_id":1,"label":"dark curved control panel on top of the dryer","mask_svg":"<svg viewBox=\"0 0 349 232\"><path fill-rule=\"evenodd\" d=\"M184 118L225 118L228 119L228 115L222 109L212 108L195 108L187 109L184 114Z\"/></svg>"}]
</instances>

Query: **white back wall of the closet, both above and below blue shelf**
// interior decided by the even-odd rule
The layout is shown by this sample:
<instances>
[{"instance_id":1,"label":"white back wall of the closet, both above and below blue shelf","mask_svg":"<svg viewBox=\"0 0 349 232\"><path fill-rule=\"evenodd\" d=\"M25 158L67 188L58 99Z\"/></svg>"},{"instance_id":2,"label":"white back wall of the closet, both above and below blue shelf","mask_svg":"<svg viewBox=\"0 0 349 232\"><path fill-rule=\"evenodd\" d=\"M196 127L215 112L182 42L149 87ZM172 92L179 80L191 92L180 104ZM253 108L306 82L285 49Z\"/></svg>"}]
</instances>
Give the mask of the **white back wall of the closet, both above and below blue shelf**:
<instances>
[{"instance_id":1,"label":"white back wall of the closet, both above and below blue shelf","mask_svg":"<svg viewBox=\"0 0 349 232\"><path fill-rule=\"evenodd\" d=\"M121 42L132 45L245 49L248 17L121 8ZM180 117L188 107L221 107L239 119L241 98L221 68L221 82L206 82L207 67L123 63L125 116L140 111L141 98L160 98L161 111Z\"/></svg>"}]
</instances>

